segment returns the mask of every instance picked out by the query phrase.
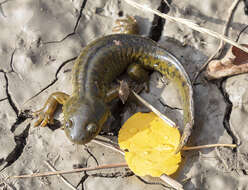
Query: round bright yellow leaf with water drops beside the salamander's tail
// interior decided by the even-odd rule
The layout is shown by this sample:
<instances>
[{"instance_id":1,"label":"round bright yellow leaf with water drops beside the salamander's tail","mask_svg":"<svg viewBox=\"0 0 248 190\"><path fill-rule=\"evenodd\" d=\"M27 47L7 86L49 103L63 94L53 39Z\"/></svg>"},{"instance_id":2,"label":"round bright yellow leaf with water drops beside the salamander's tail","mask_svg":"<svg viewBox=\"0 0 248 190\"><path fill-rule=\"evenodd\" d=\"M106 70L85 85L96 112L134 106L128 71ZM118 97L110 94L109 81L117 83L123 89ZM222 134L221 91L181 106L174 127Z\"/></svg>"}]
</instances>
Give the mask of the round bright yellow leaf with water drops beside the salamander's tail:
<instances>
[{"instance_id":1,"label":"round bright yellow leaf with water drops beside the salamander's tail","mask_svg":"<svg viewBox=\"0 0 248 190\"><path fill-rule=\"evenodd\" d=\"M181 154L174 154L180 141L178 129L172 128L154 113L136 113L122 126L118 142L128 150L125 159L139 176L159 177L175 173Z\"/></svg>"}]
</instances>

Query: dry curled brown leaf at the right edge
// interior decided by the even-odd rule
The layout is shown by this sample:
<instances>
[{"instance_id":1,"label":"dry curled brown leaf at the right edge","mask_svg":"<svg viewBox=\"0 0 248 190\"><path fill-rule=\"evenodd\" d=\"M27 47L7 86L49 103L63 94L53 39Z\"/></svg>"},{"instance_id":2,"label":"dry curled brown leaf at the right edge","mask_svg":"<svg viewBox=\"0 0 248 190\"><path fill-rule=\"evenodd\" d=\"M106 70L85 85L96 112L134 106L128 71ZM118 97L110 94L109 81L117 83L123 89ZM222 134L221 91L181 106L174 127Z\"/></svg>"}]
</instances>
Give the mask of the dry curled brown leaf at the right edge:
<instances>
[{"instance_id":1,"label":"dry curled brown leaf at the right edge","mask_svg":"<svg viewBox=\"0 0 248 190\"><path fill-rule=\"evenodd\" d=\"M247 44L243 46L248 47ZM232 46L223 59L209 63L206 77L211 80L246 72L248 72L248 53Z\"/></svg>"}]
</instances>

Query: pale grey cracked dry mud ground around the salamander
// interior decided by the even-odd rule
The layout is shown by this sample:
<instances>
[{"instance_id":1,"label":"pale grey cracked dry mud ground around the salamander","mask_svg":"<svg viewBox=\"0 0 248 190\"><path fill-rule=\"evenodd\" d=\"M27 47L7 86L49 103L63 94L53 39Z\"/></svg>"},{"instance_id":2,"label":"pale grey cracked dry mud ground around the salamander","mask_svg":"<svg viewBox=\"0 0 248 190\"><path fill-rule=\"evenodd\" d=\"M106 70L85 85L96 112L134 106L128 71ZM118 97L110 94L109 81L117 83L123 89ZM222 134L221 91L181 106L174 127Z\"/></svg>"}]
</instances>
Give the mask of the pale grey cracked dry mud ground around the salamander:
<instances>
[{"instance_id":1,"label":"pale grey cracked dry mud ground around the salamander","mask_svg":"<svg viewBox=\"0 0 248 190\"><path fill-rule=\"evenodd\" d=\"M169 10L162 2L143 0L142 4L194 20L219 33L232 3L173 0ZM247 21L243 6L239 4L231 23L232 39ZM30 111L39 109L54 91L70 94L71 69L81 49L93 39L110 34L115 19L127 14L135 16L142 35L150 36L176 55L191 78L218 47L218 40L212 37L175 23L166 22L163 27L163 20L120 0L0 2L0 188L5 188L6 176L48 171L45 160L58 170L124 161L118 153L94 143L73 145L60 129L34 128ZM241 36L240 43L245 41L247 33ZM185 152L185 161L176 176L185 189L248 188L247 81L248 74L243 74L211 83L200 78L194 85L195 127L189 144L237 143L239 147ZM182 125L180 97L173 86L154 73L150 87L150 94L141 95ZM132 113L128 108L124 110L120 112L120 123ZM55 125L60 126L60 112L56 119ZM85 190L166 189L159 179L139 178L126 169L65 177ZM69 189L57 176L7 183L13 189Z\"/></svg>"}]
</instances>

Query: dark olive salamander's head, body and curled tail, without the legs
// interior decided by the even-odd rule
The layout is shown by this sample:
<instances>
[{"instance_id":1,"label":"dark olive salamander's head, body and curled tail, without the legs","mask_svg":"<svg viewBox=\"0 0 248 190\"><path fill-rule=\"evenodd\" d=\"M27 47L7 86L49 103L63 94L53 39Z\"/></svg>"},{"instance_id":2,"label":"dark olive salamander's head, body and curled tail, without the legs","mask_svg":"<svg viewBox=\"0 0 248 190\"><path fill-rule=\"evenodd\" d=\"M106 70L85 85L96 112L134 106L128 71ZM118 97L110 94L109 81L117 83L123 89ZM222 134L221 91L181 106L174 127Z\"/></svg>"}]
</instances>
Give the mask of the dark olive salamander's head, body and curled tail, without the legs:
<instances>
[{"instance_id":1,"label":"dark olive salamander's head, body and curled tail, without the legs","mask_svg":"<svg viewBox=\"0 0 248 190\"><path fill-rule=\"evenodd\" d=\"M109 114L106 105L108 85L133 63L135 67L159 71L176 84L184 110L185 130L181 146L186 143L193 126L193 99L191 83L184 68L154 41L131 34L97 39L77 58L73 69L73 94L63 108L65 123L73 121L70 129L66 129L73 142L89 142L99 133ZM146 76L140 73L141 78ZM97 126L97 129L88 128L89 124Z\"/></svg>"}]
</instances>

